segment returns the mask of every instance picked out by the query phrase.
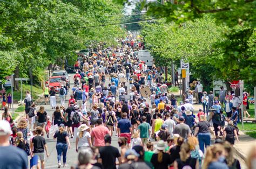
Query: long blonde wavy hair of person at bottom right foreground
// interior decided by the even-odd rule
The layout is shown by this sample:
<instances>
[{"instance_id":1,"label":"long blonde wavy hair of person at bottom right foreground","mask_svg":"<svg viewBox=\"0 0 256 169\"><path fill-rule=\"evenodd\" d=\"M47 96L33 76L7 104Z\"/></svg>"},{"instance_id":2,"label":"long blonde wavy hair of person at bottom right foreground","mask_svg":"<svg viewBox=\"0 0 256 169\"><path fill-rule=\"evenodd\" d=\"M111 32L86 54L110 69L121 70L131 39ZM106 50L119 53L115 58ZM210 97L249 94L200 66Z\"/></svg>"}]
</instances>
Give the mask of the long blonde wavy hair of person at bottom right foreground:
<instances>
[{"instance_id":1,"label":"long blonde wavy hair of person at bottom right foreground","mask_svg":"<svg viewBox=\"0 0 256 169\"><path fill-rule=\"evenodd\" d=\"M217 153L221 154L223 152L223 145L214 144L212 146L208 146L206 149L205 159L203 163L203 169L207 169L208 166L212 163L213 159L217 158Z\"/></svg>"}]
</instances>

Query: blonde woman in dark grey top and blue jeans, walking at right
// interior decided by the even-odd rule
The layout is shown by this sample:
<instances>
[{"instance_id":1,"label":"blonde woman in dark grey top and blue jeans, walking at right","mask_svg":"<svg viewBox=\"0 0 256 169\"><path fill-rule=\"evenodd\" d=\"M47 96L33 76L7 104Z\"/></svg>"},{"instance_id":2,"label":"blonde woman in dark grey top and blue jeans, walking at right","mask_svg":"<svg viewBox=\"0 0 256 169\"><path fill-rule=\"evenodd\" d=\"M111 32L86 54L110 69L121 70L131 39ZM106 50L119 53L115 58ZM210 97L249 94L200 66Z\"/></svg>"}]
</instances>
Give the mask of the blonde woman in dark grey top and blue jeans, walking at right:
<instances>
[{"instance_id":1,"label":"blonde woman in dark grey top and blue jeans, walking at right","mask_svg":"<svg viewBox=\"0 0 256 169\"><path fill-rule=\"evenodd\" d=\"M200 116L200 122L197 123L194 130L194 136L198 136L200 150L204 153L205 147L210 146L211 143L211 128L210 123L207 122L206 116Z\"/></svg>"}]
</instances>

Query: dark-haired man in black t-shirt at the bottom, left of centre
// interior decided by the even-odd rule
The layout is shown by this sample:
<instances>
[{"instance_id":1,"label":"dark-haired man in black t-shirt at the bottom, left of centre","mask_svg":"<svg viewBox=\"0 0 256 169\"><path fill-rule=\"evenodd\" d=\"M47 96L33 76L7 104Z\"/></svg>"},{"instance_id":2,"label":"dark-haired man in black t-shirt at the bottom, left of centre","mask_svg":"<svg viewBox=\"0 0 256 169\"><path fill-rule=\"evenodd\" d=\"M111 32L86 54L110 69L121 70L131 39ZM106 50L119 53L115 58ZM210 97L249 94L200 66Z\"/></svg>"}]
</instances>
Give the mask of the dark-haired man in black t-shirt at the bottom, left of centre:
<instances>
[{"instance_id":1,"label":"dark-haired man in black t-shirt at the bottom, left of centre","mask_svg":"<svg viewBox=\"0 0 256 169\"><path fill-rule=\"evenodd\" d=\"M122 164L121 155L116 147L111 146L111 136L105 135L105 146L100 147L99 154L102 159L102 165L105 169L115 169L116 159L118 159L119 165Z\"/></svg>"}]
</instances>

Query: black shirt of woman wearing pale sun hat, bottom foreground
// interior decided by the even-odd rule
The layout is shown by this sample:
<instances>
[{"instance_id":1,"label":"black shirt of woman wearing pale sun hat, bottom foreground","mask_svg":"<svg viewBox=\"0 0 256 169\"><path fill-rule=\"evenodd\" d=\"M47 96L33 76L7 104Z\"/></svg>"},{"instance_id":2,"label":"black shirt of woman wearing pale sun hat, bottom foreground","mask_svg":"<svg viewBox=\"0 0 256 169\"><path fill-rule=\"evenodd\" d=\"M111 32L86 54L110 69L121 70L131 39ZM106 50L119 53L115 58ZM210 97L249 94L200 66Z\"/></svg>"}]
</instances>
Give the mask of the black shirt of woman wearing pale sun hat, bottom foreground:
<instances>
[{"instance_id":1,"label":"black shirt of woman wearing pale sun hat, bottom foreground","mask_svg":"<svg viewBox=\"0 0 256 169\"><path fill-rule=\"evenodd\" d=\"M158 154L153 154L150 162L153 164L154 169L167 169L168 165L171 164L170 155L163 152L163 161L158 163Z\"/></svg>"}]
</instances>

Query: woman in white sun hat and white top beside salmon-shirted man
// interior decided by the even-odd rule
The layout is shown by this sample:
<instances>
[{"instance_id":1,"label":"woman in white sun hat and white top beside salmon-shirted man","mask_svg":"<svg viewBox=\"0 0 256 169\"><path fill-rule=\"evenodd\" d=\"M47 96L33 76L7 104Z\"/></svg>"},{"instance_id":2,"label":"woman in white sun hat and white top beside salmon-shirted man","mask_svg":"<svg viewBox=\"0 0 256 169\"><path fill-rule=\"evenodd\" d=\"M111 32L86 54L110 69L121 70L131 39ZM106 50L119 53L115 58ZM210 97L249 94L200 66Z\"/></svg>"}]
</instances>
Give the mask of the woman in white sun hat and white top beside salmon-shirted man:
<instances>
[{"instance_id":1,"label":"woman in white sun hat and white top beside salmon-shirted man","mask_svg":"<svg viewBox=\"0 0 256 169\"><path fill-rule=\"evenodd\" d=\"M87 126L86 124L82 124L79 126L78 130L79 132L77 133L77 138L76 138L77 152L81 147L92 146L90 126Z\"/></svg>"}]
</instances>

